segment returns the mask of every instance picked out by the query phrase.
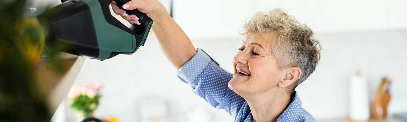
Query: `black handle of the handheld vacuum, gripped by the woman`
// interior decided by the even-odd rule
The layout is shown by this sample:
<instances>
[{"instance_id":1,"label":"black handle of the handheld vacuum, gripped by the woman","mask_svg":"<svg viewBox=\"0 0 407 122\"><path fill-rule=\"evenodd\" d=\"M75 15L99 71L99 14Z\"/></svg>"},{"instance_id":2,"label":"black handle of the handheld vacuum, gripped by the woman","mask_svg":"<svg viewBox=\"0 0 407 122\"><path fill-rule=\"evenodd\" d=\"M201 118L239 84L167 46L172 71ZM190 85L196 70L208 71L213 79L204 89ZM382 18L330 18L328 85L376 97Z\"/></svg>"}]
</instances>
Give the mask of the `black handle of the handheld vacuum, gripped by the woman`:
<instances>
[{"instance_id":1,"label":"black handle of the handheld vacuum, gripped by the woman","mask_svg":"<svg viewBox=\"0 0 407 122\"><path fill-rule=\"evenodd\" d=\"M113 1L116 2L116 5L117 5L120 9L123 9L123 4L126 4L126 3L129 2L130 0L113 0ZM134 33L138 34L138 35L141 35L141 34L144 32L144 30L147 28L147 26L149 26L149 23L150 23L151 21L153 21L153 20L151 20L151 18L148 17L145 13L142 13L142 12L138 11L137 9L134 9L134 10L126 10L126 9L123 9L123 10L125 10L126 13L129 14L129 15L131 15L131 14L137 15L137 17L139 18L138 21L140 22L140 25L136 25L136 24L132 24L132 25L131 25L131 26L134 27L134 28L131 28L131 30L132 30Z\"/></svg>"}]
</instances>

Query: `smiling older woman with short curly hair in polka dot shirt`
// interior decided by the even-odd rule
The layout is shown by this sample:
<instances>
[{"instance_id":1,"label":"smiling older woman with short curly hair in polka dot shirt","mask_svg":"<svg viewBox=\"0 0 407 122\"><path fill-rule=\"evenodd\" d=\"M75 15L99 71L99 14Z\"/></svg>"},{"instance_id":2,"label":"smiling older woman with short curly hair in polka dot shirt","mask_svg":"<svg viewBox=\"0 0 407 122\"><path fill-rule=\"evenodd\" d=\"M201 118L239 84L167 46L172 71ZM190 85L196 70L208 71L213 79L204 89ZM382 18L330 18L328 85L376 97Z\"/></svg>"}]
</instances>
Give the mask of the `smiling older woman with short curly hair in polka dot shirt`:
<instances>
[{"instance_id":1,"label":"smiling older woman with short curly hair in polka dot shirt","mask_svg":"<svg viewBox=\"0 0 407 122\"><path fill-rule=\"evenodd\" d=\"M140 24L136 15L112 7L130 23ZM294 89L315 70L319 42L309 27L281 9L258 12L244 24L232 74L195 49L157 0L131 0L123 8L138 9L153 19L153 33L178 77L235 122L316 122Z\"/></svg>"}]
</instances>

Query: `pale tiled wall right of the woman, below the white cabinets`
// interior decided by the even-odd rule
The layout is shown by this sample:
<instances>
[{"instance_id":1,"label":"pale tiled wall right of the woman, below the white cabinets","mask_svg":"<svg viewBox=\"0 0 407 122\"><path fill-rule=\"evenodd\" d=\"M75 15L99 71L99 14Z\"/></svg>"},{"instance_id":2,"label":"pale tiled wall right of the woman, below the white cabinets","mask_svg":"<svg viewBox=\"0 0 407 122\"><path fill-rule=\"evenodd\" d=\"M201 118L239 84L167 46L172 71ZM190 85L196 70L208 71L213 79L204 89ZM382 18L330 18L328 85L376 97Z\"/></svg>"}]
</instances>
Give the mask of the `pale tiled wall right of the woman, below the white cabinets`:
<instances>
[{"instance_id":1,"label":"pale tiled wall right of the woman, below the white cabinets","mask_svg":"<svg viewBox=\"0 0 407 122\"><path fill-rule=\"evenodd\" d=\"M392 81L388 112L407 110L407 30L317 34L324 50L317 69L298 88L303 106L318 119L347 118L348 78L361 70L372 101L379 81ZM303 94L303 95L302 95ZM329 111L329 112L327 112Z\"/></svg>"}]
</instances>

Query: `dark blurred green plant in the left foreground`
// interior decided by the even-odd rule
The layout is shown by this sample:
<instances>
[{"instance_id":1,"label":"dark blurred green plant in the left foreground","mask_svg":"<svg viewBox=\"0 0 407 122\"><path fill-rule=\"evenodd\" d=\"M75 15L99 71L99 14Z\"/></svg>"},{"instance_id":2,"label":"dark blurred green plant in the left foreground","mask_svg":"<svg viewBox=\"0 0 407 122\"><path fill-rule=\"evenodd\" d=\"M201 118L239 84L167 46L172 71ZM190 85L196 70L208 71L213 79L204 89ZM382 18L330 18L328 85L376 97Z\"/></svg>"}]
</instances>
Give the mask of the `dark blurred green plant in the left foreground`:
<instances>
[{"instance_id":1,"label":"dark blurred green plant in the left foreground","mask_svg":"<svg viewBox=\"0 0 407 122\"><path fill-rule=\"evenodd\" d=\"M26 17L26 0L0 0L0 122L50 122L46 96L35 77L46 34L35 17ZM48 55L57 51L50 50ZM66 70L58 59L56 71Z\"/></svg>"}]
</instances>

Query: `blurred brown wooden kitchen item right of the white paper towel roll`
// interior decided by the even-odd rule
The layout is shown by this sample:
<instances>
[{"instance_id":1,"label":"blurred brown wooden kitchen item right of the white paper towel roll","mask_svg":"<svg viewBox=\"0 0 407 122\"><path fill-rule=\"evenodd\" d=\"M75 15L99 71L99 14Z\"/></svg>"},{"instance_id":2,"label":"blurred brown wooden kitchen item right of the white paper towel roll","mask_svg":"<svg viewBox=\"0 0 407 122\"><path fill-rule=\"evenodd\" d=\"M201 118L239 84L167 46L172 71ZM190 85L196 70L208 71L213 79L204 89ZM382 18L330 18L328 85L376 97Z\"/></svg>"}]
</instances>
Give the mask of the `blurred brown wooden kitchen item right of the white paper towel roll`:
<instances>
[{"instance_id":1,"label":"blurred brown wooden kitchen item right of the white paper towel roll","mask_svg":"<svg viewBox=\"0 0 407 122\"><path fill-rule=\"evenodd\" d=\"M382 78L379 89L377 89L374 95L372 109L370 109L371 117L374 120L381 120L387 117L387 105L390 100L389 86L390 81L387 78Z\"/></svg>"}]
</instances>

